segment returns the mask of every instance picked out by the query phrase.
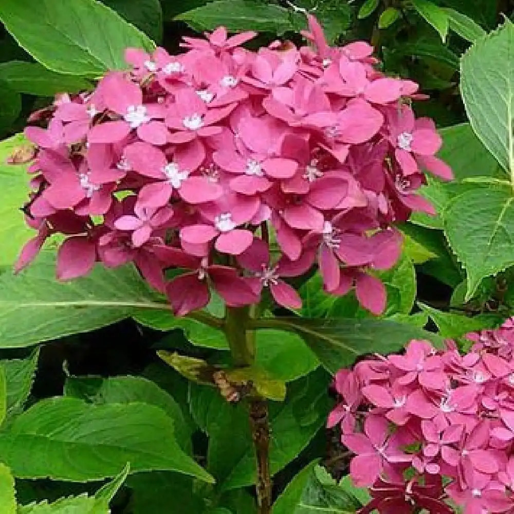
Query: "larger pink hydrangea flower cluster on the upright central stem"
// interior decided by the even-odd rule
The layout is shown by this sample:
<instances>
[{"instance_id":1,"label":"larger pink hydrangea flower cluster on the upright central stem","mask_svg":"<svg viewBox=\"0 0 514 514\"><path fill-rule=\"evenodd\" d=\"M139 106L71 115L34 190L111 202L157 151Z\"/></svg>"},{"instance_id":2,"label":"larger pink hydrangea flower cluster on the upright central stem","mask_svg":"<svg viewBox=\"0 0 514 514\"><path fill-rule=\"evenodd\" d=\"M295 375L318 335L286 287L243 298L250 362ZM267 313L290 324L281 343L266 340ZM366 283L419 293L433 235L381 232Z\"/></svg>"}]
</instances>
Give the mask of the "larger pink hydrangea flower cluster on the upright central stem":
<instances>
[{"instance_id":1,"label":"larger pink hydrangea flower cluster on the upright central stem","mask_svg":"<svg viewBox=\"0 0 514 514\"><path fill-rule=\"evenodd\" d=\"M385 292L370 270L397 261L392 223L433 213L416 194L422 170L452 174L434 156L433 122L414 117L417 84L377 71L367 43L328 47L309 23L314 45L300 49L252 52L241 45L254 33L223 27L184 38L179 55L127 49L130 71L33 115L49 120L25 132L38 147L26 207L38 235L17 268L60 232L60 279L133 262L185 315L211 288L241 306L269 287L298 308L283 279L317 263L326 291L355 287L380 313ZM171 268L186 272L168 280Z\"/></svg>"}]
</instances>

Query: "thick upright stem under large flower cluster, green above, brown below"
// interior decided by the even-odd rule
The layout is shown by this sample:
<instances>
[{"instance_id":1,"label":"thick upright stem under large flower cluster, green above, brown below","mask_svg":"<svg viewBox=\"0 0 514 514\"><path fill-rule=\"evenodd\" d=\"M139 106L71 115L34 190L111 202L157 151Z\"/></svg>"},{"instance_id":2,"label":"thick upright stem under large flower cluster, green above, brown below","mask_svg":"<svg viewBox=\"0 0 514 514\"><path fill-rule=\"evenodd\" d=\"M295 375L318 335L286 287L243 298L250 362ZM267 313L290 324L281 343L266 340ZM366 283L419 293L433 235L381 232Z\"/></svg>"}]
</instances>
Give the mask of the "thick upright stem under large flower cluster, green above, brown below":
<instances>
[{"instance_id":1,"label":"thick upright stem under large flower cluster, green above, brown below","mask_svg":"<svg viewBox=\"0 0 514 514\"><path fill-rule=\"evenodd\" d=\"M250 309L227 307L225 333L236 366L251 366L255 360L255 338L250 327ZM250 400L250 427L255 446L255 481L259 514L271 512L271 474L269 463L268 404L263 398Z\"/></svg>"}]
</instances>

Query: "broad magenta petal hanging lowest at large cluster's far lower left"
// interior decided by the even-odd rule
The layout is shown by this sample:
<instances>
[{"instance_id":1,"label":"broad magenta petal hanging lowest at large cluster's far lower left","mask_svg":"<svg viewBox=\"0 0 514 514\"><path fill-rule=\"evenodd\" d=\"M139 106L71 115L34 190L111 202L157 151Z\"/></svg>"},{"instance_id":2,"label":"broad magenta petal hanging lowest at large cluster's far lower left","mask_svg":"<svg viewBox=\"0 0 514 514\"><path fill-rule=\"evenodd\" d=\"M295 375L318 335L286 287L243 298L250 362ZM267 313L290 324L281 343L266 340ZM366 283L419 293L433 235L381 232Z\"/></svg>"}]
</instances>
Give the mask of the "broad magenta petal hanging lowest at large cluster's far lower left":
<instances>
[{"instance_id":1,"label":"broad magenta petal hanging lowest at large cluster's far lower left","mask_svg":"<svg viewBox=\"0 0 514 514\"><path fill-rule=\"evenodd\" d=\"M57 278L70 280L83 277L93 269L95 261L95 243L87 237L70 237L57 252Z\"/></svg>"}]
</instances>

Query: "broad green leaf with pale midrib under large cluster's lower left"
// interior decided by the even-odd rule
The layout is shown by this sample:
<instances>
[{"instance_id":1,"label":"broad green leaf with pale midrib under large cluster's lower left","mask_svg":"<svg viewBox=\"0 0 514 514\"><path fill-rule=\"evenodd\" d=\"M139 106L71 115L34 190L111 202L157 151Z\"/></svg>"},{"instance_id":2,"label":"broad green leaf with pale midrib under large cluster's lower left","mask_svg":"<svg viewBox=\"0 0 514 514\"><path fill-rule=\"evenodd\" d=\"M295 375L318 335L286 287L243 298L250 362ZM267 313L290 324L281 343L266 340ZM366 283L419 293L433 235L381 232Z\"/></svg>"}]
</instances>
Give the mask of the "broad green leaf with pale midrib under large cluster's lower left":
<instances>
[{"instance_id":1,"label":"broad green leaf with pale midrib under large cluster's lower left","mask_svg":"<svg viewBox=\"0 0 514 514\"><path fill-rule=\"evenodd\" d=\"M59 282L53 255L42 252L19 275L0 276L0 347L91 331L138 309L169 310L169 304L160 302L133 266L97 265L87 277Z\"/></svg>"}]
</instances>

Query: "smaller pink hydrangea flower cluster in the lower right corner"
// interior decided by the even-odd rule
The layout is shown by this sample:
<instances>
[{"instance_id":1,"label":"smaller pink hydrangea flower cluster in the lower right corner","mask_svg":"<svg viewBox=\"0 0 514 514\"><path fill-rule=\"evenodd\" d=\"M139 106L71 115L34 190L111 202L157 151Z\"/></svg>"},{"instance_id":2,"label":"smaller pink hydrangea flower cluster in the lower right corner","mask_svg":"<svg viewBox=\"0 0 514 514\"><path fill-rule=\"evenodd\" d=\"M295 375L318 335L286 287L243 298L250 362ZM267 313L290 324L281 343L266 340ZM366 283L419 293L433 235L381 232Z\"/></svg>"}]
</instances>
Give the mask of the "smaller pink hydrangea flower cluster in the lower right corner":
<instances>
[{"instance_id":1,"label":"smaller pink hydrangea flower cluster in the lower right corner","mask_svg":"<svg viewBox=\"0 0 514 514\"><path fill-rule=\"evenodd\" d=\"M356 454L356 485L371 487L361 514L514 512L514 318L467 337L464 356L413 340L337 373L328 426Z\"/></svg>"}]
</instances>

